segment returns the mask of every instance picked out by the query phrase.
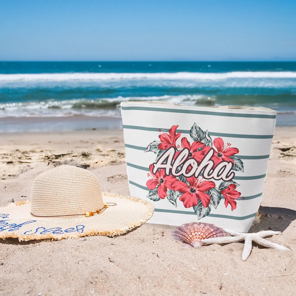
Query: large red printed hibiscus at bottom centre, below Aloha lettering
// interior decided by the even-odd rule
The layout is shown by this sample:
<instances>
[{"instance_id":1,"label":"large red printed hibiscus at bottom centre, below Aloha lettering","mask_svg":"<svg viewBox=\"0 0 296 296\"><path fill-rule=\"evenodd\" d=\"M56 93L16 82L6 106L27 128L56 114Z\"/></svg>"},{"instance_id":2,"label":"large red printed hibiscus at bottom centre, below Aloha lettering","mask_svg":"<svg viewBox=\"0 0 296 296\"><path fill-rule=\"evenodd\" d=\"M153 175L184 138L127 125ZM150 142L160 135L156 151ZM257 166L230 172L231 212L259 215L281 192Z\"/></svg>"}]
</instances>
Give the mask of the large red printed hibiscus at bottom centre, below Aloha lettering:
<instances>
[{"instance_id":1,"label":"large red printed hibiscus at bottom centre, below Aloha lettering","mask_svg":"<svg viewBox=\"0 0 296 296\"><path fill-rule=\"evenodd\" d=\"M192 176L186 179L189 182L189 185L178 180L172 184L174 190L183 193L180 196L180 200L183 202L184 207L188 208L196 206L198 199L201 200L204 207L207 207L210 204L210 196L205 192L214 188L215 183L212 181L205 181L202 177L194 178L194 176Z\"/></svg>"}]
</instances>

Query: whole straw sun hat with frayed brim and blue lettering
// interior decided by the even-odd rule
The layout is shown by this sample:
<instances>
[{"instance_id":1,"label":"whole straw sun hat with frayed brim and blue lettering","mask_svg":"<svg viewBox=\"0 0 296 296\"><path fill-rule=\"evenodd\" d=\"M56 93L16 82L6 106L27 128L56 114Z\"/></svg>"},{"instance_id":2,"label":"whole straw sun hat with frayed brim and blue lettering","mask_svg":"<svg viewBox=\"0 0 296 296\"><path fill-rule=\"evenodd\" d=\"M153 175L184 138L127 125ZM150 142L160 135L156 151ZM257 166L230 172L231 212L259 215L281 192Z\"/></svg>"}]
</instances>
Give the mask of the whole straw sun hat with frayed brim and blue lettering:
<instances>
[{"instance_id":1,"label":"whole straw sun hat with frayed brim and blue lettering","mask_svg":"<svg viewBox=\"0 0 296 296\"><path fill-rule=\"evenodd\" d=\"M102 194L89 170L62 165L34 179L30 201L0 208L0 238L113 237L145 223L153 210L135 197Z\"/></svg>"}]
</instances>

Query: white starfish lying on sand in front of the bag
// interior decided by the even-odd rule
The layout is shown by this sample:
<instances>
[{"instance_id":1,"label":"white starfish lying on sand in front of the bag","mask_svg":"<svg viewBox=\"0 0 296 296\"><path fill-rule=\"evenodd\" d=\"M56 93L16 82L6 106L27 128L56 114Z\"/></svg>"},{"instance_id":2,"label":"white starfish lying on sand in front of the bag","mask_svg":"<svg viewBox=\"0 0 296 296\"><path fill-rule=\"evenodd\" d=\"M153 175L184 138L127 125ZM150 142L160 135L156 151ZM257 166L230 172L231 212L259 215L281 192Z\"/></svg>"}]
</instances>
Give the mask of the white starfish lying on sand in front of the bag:
<instances>
[{"instance_id":1,"label":"white starfish lying on sand in front of the bag","mask_svg":"<svg viewBox=\"0 0 296 296\"><path fill-rule=\"evenodd\" d=\"M243 233L236 232L224 229L227 233L231 234L231 237L212 237L210 239L202 239L201 243L203 244L227 244L231 242L240 242L244 240L244 250L242 251L242 260L247 260L252 251L252 241L260 244L261 246L267 248L273 248L276 250L289 250L288 248L281 246L280 244L275 244L274 242L269 242L267 239L263 239L263 237L267 237L269 235L280 234L280 231L260 231L256 233Z\"/></svg>"}]
</instances>

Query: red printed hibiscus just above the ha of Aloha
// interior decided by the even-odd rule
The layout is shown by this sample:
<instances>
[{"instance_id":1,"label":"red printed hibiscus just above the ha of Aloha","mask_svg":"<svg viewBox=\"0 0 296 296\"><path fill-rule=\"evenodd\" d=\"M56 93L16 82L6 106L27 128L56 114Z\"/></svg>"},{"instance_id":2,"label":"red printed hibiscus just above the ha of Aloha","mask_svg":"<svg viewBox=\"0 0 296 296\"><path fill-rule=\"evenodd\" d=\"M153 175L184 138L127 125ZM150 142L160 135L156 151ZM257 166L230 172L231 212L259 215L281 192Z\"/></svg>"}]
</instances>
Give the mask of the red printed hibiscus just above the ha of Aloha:
<instances>
[{"instance_id":1,"label":"red printed hibiscus just above the ha of Aloha","mask_svg":"<svg viewBox=\"0 0 296 296\"><path fill-rule=\"evenodd\" d=\"M215 166L218 165L218 163L221 163L221 161L228 161L234 163L234 161L230 158L230 156L233 156L234 154L239 153L239 149L230 147L231 144L227 143L227 146L224 147L224 141L221 138L216 138L214 140L214 146L217 150L214 149L214 155L212 157L212 160L215 163ZM212 147L205 146L202 151L207 154L207 152Z\"/></svg>"}]
</instances>

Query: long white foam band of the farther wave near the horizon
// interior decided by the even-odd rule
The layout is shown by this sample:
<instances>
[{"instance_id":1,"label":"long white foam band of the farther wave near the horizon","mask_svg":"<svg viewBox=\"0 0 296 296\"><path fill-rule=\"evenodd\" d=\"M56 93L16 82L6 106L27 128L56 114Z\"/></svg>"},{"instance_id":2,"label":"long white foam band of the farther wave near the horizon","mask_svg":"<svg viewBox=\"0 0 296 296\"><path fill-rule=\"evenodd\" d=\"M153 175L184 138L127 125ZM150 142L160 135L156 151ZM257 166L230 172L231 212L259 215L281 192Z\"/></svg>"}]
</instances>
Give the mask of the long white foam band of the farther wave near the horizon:
<instances>
[{"instance_id":1,"label":"long white foam band of the farther wave near the horizon","mask_svg":"<svg viewBox=\"0 0 296 296\"><path fill-rule=\"evenodd\" d=\"M227 72L227 73L41 73L0 74L0 83L62 82L102 80L225 80L230 78L296 78L296 72Z\"/></svg>"}]
</instances>

